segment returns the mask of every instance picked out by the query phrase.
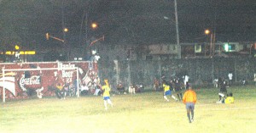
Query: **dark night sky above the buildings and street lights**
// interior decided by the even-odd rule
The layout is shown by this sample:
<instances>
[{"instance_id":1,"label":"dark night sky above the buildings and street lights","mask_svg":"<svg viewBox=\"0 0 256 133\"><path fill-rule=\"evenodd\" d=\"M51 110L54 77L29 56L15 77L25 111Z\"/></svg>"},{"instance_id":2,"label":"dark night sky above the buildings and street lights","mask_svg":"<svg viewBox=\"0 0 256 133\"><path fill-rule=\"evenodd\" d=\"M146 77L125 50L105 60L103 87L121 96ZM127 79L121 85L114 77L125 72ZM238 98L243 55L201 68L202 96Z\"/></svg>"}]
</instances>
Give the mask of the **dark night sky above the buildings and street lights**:
<instances>
[{"instance_id":1,"label":"dark night sky above the buildings and street lights","mask_svg":"<svg viewBox=\"0 0 256 133\"><path fill-rule=\"evenodd\" d=\"M104 43L113 44L176 42L173 0L0 0L0 6L1 47L60 46L46 41L45 33L63 38L62 22L69 29L66 39L77 47L85 42L85 13L88 26L99 25L87 29L88 38L104 35ZM181 43L205 42L205 29L216 30L217 42L256 42L255 0L177 0L177 10Z\"/></svg>"}]
</instances>

